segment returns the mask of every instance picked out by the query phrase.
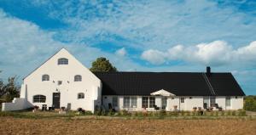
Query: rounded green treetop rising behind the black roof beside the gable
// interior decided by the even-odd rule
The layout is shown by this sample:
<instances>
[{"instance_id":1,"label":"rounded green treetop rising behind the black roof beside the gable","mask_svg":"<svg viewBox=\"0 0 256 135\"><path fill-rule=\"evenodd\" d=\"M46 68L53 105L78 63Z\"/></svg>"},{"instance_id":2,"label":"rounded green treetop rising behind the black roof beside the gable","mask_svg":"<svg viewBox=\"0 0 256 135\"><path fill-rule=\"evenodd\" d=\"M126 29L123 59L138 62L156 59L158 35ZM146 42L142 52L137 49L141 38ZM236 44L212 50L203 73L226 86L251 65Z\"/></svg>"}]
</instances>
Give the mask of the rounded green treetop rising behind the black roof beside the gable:
<instances>
[{"instance_id":1,"label":"rounded green treetop rising behind the black roof beside the gable","mask_svg":"<svg viewBox=\"0 0 256 135\"><path fill-rule=\"evenodd\" d=\"M118 71L110 62L108 59L104 57L97 58L96 61L94 61L91 64L90 71L92 72L116 72Z\"/></svg>"}]
</instances>

